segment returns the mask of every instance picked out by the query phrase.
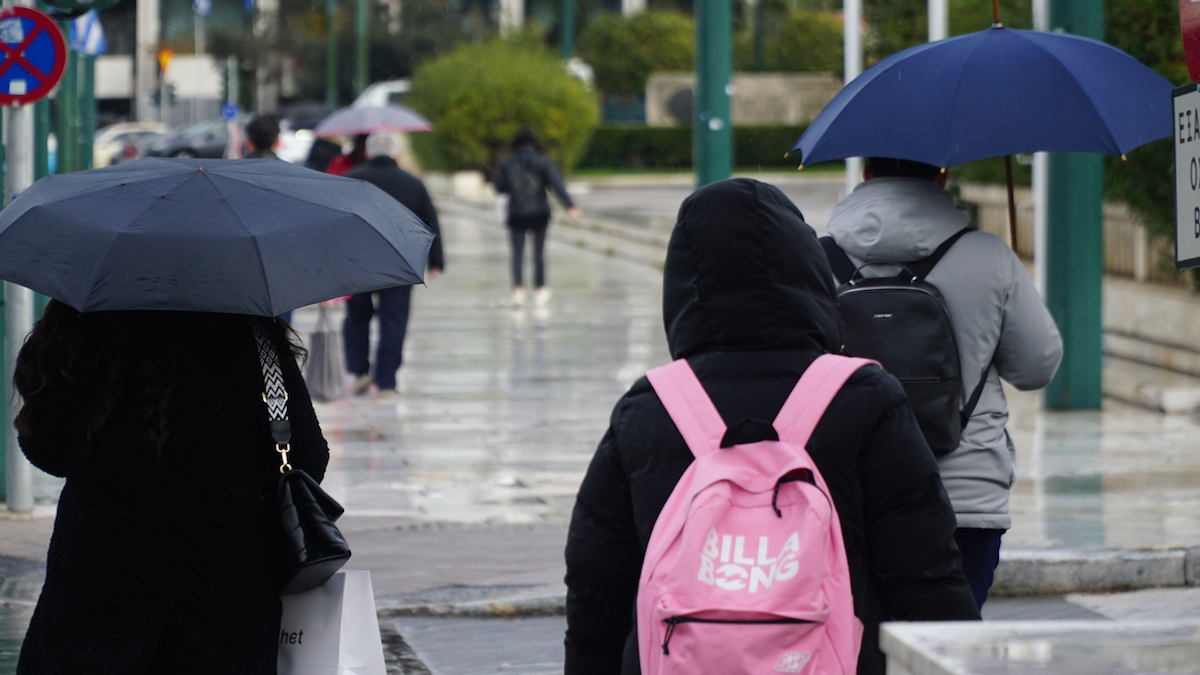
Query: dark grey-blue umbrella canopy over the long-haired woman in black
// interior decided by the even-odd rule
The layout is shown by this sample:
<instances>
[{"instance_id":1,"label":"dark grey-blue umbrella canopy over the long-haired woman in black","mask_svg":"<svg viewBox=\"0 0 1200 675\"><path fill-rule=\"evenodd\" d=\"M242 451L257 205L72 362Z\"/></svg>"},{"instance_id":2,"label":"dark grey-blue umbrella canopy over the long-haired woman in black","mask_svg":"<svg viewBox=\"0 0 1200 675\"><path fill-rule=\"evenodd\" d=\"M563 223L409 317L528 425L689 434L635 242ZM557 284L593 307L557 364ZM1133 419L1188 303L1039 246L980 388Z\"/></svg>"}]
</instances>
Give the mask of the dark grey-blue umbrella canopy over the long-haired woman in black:
<instances>
[{"instance_id":1,"label":"dark grey-blue umbrella canopy over the long-haired woman in black","mask_svg":"<svg viewBox=\"0 0 1200 675\"><path fill-rule=\"evenodd\" d=\"M433 233L378 187L281 160L50 175L0 211L0 279L88 312L278 316L418 283Z\"/></svg>"}]
</instances>

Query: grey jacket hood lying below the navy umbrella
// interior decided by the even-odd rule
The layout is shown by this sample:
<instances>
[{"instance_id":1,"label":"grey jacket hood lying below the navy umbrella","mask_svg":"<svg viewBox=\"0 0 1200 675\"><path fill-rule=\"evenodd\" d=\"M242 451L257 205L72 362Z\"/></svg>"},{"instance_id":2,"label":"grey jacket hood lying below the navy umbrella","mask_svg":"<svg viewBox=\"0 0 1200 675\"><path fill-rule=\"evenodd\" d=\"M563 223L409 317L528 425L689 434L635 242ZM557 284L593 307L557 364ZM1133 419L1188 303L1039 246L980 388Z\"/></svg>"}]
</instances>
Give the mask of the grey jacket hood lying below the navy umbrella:
<instances>
[{"instance_id":1,"label":"grey jacket hood lying below the navy umbrella","mask_svg":"<svg viewBox=\"0 0 1200 675\"><path fill-rule=\"evenodd\" d=\"M954 198L917 178L874 178L834 207L829 235L863 262L907 263L929 257L967 226Z\"/></svg>"}]
</instances>

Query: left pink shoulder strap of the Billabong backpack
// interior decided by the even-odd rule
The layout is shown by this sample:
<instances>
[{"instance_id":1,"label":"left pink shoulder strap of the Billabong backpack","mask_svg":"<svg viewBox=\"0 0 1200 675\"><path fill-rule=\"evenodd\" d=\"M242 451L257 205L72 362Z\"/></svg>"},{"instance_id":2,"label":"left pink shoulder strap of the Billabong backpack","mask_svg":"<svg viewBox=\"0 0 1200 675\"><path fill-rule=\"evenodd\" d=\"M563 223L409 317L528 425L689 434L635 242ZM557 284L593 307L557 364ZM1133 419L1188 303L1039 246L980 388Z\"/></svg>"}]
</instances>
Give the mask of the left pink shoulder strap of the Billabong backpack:
<instances>
[{"instance_id":1,"label":"left pink shoulder strap of the Billabong backpack","mask_svg":"<svg viewBox=\"0 0 1200 675\"><path fill-rule=\"evenodd\" d=\"M720 449L725 420L686 359L647 371L646 377L694 456Z\"/></svg>"}]
</instances>

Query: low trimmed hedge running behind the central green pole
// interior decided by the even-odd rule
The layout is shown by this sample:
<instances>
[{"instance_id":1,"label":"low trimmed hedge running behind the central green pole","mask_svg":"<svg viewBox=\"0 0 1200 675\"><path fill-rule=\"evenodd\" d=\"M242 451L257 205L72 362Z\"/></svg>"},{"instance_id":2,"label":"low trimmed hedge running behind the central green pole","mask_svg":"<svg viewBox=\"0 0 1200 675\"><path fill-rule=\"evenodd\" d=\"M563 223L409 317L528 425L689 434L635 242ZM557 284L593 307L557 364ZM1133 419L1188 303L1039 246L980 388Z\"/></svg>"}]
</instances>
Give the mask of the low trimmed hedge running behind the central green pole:
<instances>
[{"instance_id":1,"label":"low trimmed hedge running behind the central green pole","mask_svg":"<svg viewBox=\"0 0 1200 675\"><path fill-rule=\"evenodd\" d=\"M796 168L784 157L806 126L733 127L733 163L738 167ZM689 169L690 126L601 126L588 141L577 168Z\"/></svg>"}]
</instances>

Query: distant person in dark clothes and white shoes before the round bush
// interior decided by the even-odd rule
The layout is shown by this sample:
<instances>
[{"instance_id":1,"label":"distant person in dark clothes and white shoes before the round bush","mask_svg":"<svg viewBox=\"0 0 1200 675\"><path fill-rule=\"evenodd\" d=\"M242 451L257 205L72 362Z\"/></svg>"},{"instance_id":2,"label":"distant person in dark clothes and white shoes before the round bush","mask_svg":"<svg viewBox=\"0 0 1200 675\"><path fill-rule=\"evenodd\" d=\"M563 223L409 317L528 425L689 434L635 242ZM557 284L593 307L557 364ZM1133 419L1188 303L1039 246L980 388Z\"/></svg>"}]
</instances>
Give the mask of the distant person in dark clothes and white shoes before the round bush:
<instances>
[{"instance_id":1,"label":"distant person in dark clothes and white shoes before the round bush","mask_svg":"<svg viewBox=\"0 0 1200 675\"><path fill-rule=\"evenodd\" d=\"M551 189L568 209L571 217L580 216L580 208L571 202L571 196L563 187L558 167L547 157L538 137L528 126L521 127L510 142L512 154L496 167L492 184L496 191L509 197L508 226L512 244L512 304L524 304L524 265L526 233L533 234L533 287L534 301L545 306L550 301L550 288L546 287L546 228L550 226L550 199L546 190Z\"/></svg>"}]
</instances>

